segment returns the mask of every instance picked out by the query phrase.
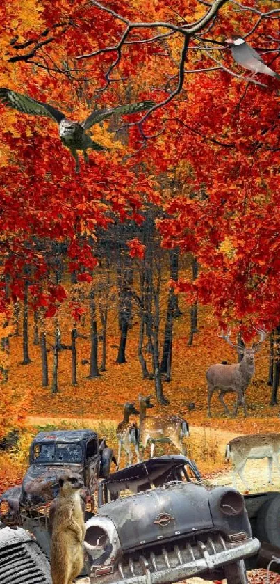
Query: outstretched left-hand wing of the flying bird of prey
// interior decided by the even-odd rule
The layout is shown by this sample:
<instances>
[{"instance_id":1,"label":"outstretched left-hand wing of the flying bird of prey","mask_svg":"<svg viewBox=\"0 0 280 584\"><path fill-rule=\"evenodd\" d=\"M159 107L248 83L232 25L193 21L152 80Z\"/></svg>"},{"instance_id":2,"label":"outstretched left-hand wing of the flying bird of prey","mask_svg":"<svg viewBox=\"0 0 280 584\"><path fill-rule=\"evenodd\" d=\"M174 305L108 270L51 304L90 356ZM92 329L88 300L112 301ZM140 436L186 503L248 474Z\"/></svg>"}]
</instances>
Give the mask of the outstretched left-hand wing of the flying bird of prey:
<instances>
[{"instance_id":1,"label":"outstretched left-hand wing of the flying bird of prey","mask_svg":"<svg viewBox=\"0 0 280 584\"><path fill-rule=\"evenodd\" d=\"M0 101L23 113L31 113L33 116L47 116L47 118L52 118L58 124L65 118L64 113L55 107L38 102L33 100L32 97L28 97L28 95L22 95L22 93L17 93L5 87L0 88Z\"/></svg>"}]
</instances>

